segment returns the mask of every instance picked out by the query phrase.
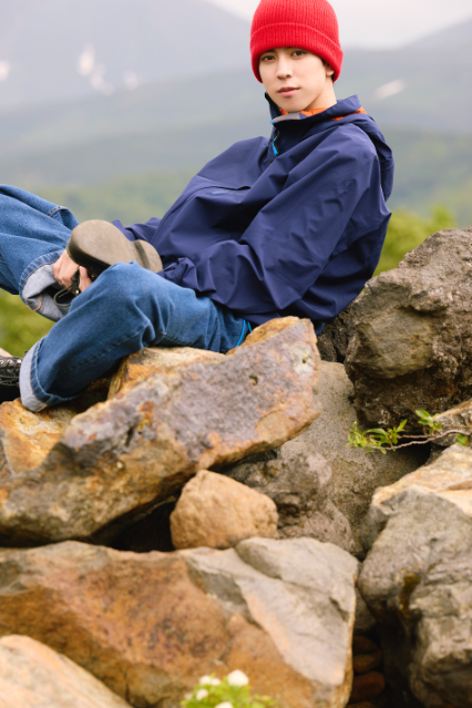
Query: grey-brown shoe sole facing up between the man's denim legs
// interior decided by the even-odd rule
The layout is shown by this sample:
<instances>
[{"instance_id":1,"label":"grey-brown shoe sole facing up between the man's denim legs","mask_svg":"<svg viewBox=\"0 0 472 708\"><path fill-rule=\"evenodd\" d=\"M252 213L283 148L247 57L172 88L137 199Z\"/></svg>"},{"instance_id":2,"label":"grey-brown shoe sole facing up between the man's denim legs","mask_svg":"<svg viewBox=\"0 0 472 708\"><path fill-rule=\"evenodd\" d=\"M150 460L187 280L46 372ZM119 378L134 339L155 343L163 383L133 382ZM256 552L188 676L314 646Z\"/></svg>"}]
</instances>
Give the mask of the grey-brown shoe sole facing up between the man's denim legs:
<instances>
[{"instance_id":1,"label":"grey-brown shoe sole facing up between the man's denim legs","mask_svg":"<svg viewBox=\"0 0 472 708\"><path fill-rule=\"evenodd\" d=\"M94 278L115 263L135 260L142 268L158 273L163 265L156 249L146 240L127 240L109 222L93 219L75 226L66 246L74 263Z\"/></svg>"}]
</instances>

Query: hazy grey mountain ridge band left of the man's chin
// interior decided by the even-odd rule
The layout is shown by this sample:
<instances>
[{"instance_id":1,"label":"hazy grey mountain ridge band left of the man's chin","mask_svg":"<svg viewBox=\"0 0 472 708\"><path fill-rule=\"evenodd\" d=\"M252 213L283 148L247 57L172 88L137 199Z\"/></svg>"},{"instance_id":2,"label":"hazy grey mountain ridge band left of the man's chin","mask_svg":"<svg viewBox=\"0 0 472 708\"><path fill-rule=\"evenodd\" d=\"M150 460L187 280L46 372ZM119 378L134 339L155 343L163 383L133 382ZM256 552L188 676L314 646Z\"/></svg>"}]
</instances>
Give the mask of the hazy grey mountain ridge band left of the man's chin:
<instances>
[{"instance_id":1,"label":"hazy grey mountain ridge band left of the man's chin","mask_svg":"<svg viewBox=\"0 0 472 708\"><path fill-rule=\"evenodd\" d=\"M135 91L121 90L111 96L93 95L17 109L0 114L0 157L17 153L41 152L72 146L101 137L193 127L227 121L259 121L270 131L264 88L255 81L249 66L244 70L173 79L148 83ZM166 134L155 134L166 141ZM235 138L236 140L236 138Z\"/></svg>"}]
</instances>

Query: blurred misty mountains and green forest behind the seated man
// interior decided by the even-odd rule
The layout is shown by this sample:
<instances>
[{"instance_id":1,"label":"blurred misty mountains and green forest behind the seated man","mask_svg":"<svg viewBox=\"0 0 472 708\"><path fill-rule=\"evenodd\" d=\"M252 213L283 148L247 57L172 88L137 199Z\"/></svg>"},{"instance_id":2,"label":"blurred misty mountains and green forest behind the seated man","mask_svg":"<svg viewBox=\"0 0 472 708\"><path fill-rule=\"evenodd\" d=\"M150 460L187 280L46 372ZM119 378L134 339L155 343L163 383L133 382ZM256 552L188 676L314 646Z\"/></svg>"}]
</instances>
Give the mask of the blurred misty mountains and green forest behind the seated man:
<instances>
[{"instance_id":1,"label":"blurred misty mountains and green forest behind the seated man","mask_svg":"<svg viewBox=\"0 0 472 708\"><path fill-rule=\"evenodd\" d=\"M249 23L205 0L0 8L1 182L80 220L162 216L205 162L270 133ZM397 163L378 273L472 223L471 42L472 18L400 49L346 51L337 95L360 96ZM0 347L21 356L50 327L0 293Z\"/></svg>"}]
</instances>

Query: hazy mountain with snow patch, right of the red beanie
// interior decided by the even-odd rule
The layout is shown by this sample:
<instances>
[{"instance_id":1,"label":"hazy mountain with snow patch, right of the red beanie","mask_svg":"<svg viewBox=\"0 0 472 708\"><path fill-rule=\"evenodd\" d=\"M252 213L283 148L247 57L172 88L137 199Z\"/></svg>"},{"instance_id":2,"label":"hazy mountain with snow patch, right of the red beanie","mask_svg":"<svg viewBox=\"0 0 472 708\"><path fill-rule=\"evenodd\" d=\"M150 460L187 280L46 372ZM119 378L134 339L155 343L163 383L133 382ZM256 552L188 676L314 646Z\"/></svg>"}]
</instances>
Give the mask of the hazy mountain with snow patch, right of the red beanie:
<instances>
[{"instance_id":1,"label":"hazy mountain with snow patch, right of the red beanie","mask_svg":"<svg viewBox=\"0 0 472 708\"><path fill-rule=\"evenodd\" d=\"M347 51L337 94L358 93L380 125L472 133L471 47L468 22L435 34L430 43Z\"/></svg>"}]
</instances>

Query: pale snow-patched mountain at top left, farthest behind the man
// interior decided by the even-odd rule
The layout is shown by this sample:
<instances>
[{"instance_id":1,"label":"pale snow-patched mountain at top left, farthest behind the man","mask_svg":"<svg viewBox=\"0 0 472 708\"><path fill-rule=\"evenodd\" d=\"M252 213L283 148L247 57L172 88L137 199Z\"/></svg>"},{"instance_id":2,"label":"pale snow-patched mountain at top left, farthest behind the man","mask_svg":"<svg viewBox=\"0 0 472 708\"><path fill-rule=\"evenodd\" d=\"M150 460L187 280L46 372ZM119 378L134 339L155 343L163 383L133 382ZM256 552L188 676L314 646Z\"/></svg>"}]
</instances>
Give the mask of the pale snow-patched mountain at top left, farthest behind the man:
<instances>
[{"instance_id":1,"label":"pale snow-patched mountain at top left, farthest behind the man","mask_svg":"<svg viewBox=\"0 0 472 708\"><path fill-rule=\"evenodd\" d=\"M244 66L248 43L204 0L3 0L0 112Z\"/></svg>"}]
</instances>

